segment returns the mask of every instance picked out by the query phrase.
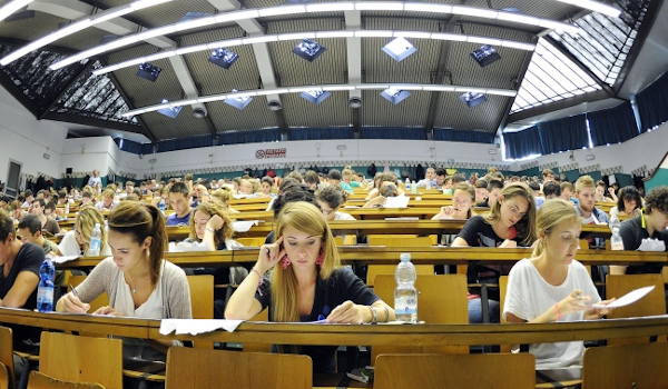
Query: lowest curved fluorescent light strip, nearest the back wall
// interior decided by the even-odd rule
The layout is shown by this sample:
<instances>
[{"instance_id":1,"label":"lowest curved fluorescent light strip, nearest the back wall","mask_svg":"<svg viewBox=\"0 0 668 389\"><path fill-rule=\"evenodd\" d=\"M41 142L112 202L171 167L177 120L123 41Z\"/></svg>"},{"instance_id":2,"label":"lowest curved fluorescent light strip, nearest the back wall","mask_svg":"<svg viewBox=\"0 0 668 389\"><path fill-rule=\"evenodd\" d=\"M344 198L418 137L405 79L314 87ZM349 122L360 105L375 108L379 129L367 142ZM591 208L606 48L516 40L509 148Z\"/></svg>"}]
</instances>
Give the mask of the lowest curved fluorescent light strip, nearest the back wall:
<instances>
[{"instance_id":1,"label":"lowest curved fluorescent light strip, nearest the back wall","mask_svg":"<svg viewBox=\"0 0 668 389\"><path fill-rule=\"evenodd\" d=\"M285 94L285 93L301 93L310 90L323 90L323 91L351 91L351 90L397 90L404 91L406 93L407 89L411 90L425 90L425 91L441 91L441 92L472 92L472 93L484 93L491 96L505 96L505 97L514 97L517 96L515 90L509 89L494 89L494 88L475 88L475 87L466 87L466 86L436 86L436 84L420 84L420 83L351 83L351 84L322 84L322 86L296 86L293 88L276 88L276 89L258 89L258 90L247 90L244 92L238 92L233 90L229 93L220 93L220 94L212 94L206 97L199 97L196 100L193 99L184 99L179 101L173 101L167 104L156 104L148 106L138 109L134 109L131 111L127 111L122 113L124 117L134 117L137 114L143 114L146 112L155 112L158 109L176 107L176 106L186 106L191 104L194 101L199 103L213 102L213 101L224 101L237 99L238 102L246 102L246 98L252 98L255 96L269 96L269 94ZM390 93L389 93L390 94ZM394 92L392 94L395 94Z\"/></svg>"}]
</instances>

